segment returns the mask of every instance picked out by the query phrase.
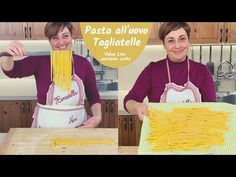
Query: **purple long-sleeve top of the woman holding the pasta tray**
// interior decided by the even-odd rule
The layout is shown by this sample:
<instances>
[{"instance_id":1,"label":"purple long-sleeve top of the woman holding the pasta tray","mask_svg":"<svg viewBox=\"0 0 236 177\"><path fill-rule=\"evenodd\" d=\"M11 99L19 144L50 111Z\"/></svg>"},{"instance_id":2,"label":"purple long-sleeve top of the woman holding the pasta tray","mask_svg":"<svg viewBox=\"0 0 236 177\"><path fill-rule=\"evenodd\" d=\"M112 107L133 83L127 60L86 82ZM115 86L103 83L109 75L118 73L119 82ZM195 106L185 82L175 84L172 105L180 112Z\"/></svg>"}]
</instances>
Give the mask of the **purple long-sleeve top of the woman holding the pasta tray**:
<instances>
[{"instance_id":1,"label":"purple long-sleeve top of the woman holding the pasta tray","mask_svg":"<svg viewBox=\"0 0 236 177\"><path fill-rule=\"evenodd\" d=\"M164 92L165 84L169 82L166 60L168 60L170 66L171 81L182 86L187 82L187 60L175 63L169 58L165 58L160 61L151 62L141 72L133 88L125 96L124 108L126 111L127 108L125 105L129 100L143 102L144 98L147 96L149 102L160 102L160 97ZM215 102L215 86L209 69L205 65L193 60L189 60L189 64L189 79L199 89L202 102Z\"/></svg>"}]
</instances>

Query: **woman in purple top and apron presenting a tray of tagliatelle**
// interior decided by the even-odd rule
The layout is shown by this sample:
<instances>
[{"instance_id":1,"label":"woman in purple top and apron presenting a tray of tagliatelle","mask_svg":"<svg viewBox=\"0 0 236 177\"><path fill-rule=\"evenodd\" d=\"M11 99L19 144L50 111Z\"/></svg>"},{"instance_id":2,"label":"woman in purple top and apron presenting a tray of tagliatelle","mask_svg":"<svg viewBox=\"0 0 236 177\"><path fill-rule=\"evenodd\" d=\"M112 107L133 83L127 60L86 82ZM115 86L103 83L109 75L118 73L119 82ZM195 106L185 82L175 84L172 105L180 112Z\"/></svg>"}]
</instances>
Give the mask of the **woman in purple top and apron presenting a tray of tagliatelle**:
<instances>
[{"instance_id":1,"label":"woman in purple top and apron presenting a tray of tagliatelle","mask_svg":"<svg viewBox=\"0 0 236 177\"><path fill-rule=\"evenodd\" d=\"M149 102L215 102L213 78L208 68L187 56L190 27L185 22L166 22L159 37L166 50L165 59L151 62L139 75L124 98L124 108L142 120Z\"/></svg>"}]
</instances>

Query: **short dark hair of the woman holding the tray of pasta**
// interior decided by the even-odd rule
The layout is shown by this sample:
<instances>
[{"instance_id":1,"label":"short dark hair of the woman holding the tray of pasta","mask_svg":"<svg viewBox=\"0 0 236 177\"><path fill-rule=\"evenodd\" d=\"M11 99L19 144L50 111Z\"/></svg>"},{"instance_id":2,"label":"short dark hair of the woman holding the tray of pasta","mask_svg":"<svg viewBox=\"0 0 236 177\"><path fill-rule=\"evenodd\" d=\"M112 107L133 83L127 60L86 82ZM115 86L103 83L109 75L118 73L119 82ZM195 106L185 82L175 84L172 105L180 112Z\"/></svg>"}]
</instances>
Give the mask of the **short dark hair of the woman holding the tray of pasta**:
<instances>
[{"instance_id":1,"label":"short dark hair of the woman holding the tray of pasta","mask_svg":"<svg viewBox=\"0 0 236 177\"><path fill-rule=\"evenodd\" d=\"M186 31L189 38L191 29L190 29L190 26L186 22L165 22L160 26L160 29L159 29L160 40L164 42L166 35L168 35L171 31L175 31L179 28L183 28Z\"/></svg>"}]
</instances>

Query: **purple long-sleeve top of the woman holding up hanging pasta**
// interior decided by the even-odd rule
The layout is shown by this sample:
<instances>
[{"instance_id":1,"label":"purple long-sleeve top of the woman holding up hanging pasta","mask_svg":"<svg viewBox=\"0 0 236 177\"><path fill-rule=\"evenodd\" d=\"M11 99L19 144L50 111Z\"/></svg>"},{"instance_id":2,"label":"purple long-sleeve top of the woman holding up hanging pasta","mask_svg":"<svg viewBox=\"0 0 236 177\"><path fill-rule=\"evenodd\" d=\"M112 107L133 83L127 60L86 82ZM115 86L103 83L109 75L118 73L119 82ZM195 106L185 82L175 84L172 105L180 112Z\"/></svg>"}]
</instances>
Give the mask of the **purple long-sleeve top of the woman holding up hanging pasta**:
<instances>
[{"instance_id":1,"label":"purple long-sleeve top of the woman holding up hanging pasta","mask_svg":"<svg viewBox=\"0 0 236 177\"><path fill-rule=\"evenodd\" d=\"M85 94L90 105L100 103L100 96L96 87L94 70L89 61L73 54L75 74L83 81ZM48 88L51 85L50 56L28 56L14 61L11 71L3 72L10 78L22 78L34 75L37 87L37 99L40 104L46 104Z\"/></svg>"}]
</instances>

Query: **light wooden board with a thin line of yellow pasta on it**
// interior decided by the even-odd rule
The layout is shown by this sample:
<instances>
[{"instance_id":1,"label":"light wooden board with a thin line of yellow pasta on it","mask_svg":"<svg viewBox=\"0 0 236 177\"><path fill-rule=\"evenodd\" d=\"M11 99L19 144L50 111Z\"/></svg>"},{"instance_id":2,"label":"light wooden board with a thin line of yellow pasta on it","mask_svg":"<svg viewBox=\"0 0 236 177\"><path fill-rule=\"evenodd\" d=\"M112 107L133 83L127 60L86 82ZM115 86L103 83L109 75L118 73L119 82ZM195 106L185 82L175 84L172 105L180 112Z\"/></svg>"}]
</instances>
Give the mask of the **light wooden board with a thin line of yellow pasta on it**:
<instances>
[{"instance_id":1,"label":"light wooden board with a thin line of yellow pasta on it","mask_svg":"<svg viewBox=\"0 0 236 177\"><path fill-rule=\"evenodd\" d=\"M0 154L118 154L118 129L11 128Z\"/></svg>"}]
</instances>

